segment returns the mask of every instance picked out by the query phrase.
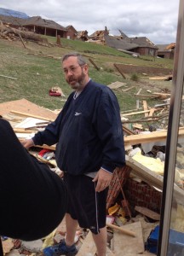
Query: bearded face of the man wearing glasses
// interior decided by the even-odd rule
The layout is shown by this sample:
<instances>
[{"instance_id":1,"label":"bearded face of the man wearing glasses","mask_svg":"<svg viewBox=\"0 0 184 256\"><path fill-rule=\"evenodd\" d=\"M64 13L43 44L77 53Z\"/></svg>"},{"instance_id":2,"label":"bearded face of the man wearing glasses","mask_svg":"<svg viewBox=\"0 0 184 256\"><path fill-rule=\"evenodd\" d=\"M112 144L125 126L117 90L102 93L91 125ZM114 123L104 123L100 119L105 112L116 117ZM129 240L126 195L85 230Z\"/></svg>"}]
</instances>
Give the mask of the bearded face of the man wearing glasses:
<instances>
[{"instance_id":1,"label":"bearded face of the man wearing glasses","mask_svg":"<svg viewBox=\"0 0 184 256\"><path fill-rule=\"evenodd\" d=\"M71 56L63 61L63 71L66 82L74 90L83 90L85 84L88 83L88 66L86 64L80 66L76 56Z\"/></svg>"}]
</instances>

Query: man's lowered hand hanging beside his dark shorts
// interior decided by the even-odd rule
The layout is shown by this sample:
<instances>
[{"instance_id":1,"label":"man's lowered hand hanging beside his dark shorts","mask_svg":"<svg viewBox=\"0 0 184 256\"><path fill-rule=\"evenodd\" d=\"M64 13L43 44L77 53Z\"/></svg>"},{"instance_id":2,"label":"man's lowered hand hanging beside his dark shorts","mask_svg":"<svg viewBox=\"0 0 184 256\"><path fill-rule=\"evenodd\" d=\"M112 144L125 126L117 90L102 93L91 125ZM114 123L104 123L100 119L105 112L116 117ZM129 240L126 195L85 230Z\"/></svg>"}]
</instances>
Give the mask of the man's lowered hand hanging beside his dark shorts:
<instances>
[{"instance_id":1,"label":"man's lowered hand hanging beside his dark shorts","mask_svg":"<svg viewBox=\"0 0 184 256\"><path fill-rule=\"evenodd\" d=\"M103 169L100 169L99 172L96 173L96 176L93 179L93 182L97 182L95 191L101 192L102 190L106 189L112 180L112 173L106 172Z\"/></svg>"}]
</instances>

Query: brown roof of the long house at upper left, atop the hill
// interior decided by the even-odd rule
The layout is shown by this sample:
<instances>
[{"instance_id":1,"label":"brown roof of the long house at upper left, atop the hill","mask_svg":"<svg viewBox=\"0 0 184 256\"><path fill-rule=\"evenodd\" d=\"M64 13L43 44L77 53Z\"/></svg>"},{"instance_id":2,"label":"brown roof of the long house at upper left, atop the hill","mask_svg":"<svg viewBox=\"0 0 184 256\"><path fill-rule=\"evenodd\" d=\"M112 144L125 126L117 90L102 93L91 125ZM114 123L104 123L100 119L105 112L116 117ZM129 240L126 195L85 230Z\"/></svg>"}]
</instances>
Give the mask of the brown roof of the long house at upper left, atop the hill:
<instances>
[{"instance_id":1,"label":"brown roof of the long house at upper left, atop the hill","mask_svg":"<svg viewBox=\"0 0 184 256\"><path fill-rule=\"evenodd\" d=\"M43 26L47 28L66 31L66 28L64 26L60 26L60 24L56 23L53 20L45 20L40 16L33 16L29 19L26 19L22 25L23 26Z\"/></svg>"}]
</instances>

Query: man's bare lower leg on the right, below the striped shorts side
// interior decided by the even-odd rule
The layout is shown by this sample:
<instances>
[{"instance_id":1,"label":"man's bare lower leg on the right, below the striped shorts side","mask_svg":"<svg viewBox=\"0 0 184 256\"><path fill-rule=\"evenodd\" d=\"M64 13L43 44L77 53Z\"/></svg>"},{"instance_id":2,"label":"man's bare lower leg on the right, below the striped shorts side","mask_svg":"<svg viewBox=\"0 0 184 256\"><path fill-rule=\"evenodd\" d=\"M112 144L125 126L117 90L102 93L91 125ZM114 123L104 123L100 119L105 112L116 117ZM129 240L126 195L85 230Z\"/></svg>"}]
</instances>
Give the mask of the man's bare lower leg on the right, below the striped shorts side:
<instances>
[{"instance_id":1,"label":"man's bare lower leg on the right, below the striped shorts side","mask_svg":"<svg viewBox=\"0 0 184 256\"><path fill-rule=\"evenodd\" d=\"M100 229L100 233L97 235L92 233L92 236L95 241L95 246L97 248L97 255L106 256L106 227Z\"/></svg>"}]
</instances>

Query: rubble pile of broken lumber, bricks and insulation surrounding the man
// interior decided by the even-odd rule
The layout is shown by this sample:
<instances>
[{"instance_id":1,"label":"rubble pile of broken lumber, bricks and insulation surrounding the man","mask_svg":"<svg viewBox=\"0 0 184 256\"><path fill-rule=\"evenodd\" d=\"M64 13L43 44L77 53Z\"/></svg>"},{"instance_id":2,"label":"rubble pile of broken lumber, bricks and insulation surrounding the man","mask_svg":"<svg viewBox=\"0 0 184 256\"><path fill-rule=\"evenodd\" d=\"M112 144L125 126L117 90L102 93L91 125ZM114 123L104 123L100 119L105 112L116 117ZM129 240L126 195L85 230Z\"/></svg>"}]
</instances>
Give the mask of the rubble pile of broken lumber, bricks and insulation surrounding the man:
<instances>
[{"instance_id":1,"label":"rubble pile of broken lumber, bricks and insulation surrounding the man","mask_svg":"<svg viewBox=\"0 0 184 256\"><path fill-rule=\"evenodd\" d=\"M144 106L146 103L144 102ZM106 202L106 226L108 230L107 255L155 255L150 247L149 237L152 230L159 225L162 187L164 179L165 143L167 137L168 106L159 107L159 114L165 114L165 122L161 129L153 119L152 108L144 110L148 113L147 121L128 123L129 112L122 113L126 119L124 144L126 150L126 166L117 168L109 186ZM133 111L135 115L136 111ZM0 114L9 120L14 132L20 139L32 137L37 131L43 131L49 122L55 120L57 113L28 102L25 99L0 104ZM139 113L140 114L140 113ZM167 114L167 116L166 116ZM146 117L146 116L145 116ZM148 120L152 119L152 122ZM175 172L175 218L172 228L184 232L184 161L183 161L183 120L179 129ZM43 145L30 149L30 154L49 165L60 177L61 171L55 162L55 145ZM44 214L44 213L43 213ZM176 222L180 219L180 223ZM65 219L56 230L38 241L26 242L2 237L3 251L10 255L42 255L44 247L59 243L66 235ZM95 244L89 230L78 227L76 233L78 255L95 255ZM124 242L123 242L124 241Z\"/></svg>"}]
</instances>

